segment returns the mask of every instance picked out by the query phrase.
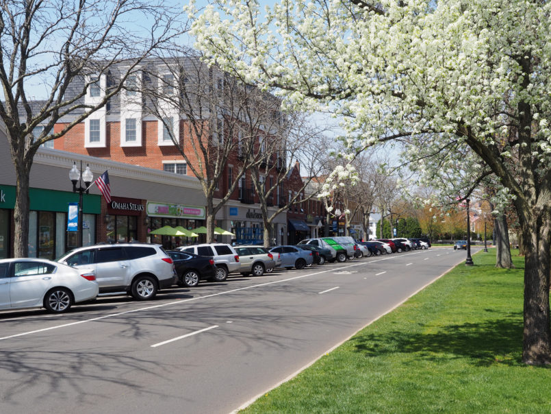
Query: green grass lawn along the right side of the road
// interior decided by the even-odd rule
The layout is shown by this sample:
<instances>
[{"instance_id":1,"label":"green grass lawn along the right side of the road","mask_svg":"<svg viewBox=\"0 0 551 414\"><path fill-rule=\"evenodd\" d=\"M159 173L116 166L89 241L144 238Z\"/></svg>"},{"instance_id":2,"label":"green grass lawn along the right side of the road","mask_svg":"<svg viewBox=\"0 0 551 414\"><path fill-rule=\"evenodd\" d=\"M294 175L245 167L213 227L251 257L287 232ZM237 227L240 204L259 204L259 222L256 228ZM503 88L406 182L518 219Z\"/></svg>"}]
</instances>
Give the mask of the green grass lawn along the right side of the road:
<instances>
[{"instance_id":1,"label":"green grass lawn along the right side of the road","mask_svg":"<svg viewBox=\"0 0 551 414\"><path fill-rule=\"evenodd\" d=\"M551 413L551 369L521 363L524 258L473 259L243 412Z\"/></svg>"}]
</instances>

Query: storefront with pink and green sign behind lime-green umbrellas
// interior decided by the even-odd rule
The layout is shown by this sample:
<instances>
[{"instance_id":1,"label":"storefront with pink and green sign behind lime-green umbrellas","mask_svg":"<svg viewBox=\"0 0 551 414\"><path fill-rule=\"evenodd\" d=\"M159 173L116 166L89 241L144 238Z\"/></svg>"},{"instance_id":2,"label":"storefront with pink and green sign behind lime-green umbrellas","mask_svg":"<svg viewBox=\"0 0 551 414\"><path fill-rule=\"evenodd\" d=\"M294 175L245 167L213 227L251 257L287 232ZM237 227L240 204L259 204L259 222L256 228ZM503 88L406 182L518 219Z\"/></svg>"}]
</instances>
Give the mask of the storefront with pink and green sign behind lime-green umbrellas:
<instances>
[{"instance_id":1,"label":"storefront with pink and green sign behind lime-green umbrellas","mask_svg":"<svg viewBox=\"0 0 551 414\"><path fill-rule=\"evenodd\" d=\"M202 206L147 202L146 215L145 221L149 243L159 243L167 249L173 249L178 246L205 241L205 234L199 234L198 237L159 236L149 234L149 232L164 226L173 228L181 226L187 230L205 226L205 208Z\"/></svg>"}]
</instances>

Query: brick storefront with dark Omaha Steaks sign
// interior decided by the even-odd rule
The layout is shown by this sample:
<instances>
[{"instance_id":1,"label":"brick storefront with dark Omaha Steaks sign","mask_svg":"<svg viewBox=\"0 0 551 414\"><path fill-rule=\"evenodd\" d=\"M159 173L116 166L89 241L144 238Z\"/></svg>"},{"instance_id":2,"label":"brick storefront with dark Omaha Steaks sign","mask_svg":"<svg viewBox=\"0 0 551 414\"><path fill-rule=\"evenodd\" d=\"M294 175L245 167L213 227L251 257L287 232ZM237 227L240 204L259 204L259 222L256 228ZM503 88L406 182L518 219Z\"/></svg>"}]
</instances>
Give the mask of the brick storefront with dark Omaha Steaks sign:
<instances>
[{"instance_id":1,"label":"brick storefront with dark Omaha Steaks sign","mask_svg":"<svg viewBox=\"0 0 551 414\"><path fill-rule=\"evenodd\" d=\"M109 243L144 240L143 220L145 202L141 199L112 197L105 215L105 236Z\"/></svg>"}]
</instances>

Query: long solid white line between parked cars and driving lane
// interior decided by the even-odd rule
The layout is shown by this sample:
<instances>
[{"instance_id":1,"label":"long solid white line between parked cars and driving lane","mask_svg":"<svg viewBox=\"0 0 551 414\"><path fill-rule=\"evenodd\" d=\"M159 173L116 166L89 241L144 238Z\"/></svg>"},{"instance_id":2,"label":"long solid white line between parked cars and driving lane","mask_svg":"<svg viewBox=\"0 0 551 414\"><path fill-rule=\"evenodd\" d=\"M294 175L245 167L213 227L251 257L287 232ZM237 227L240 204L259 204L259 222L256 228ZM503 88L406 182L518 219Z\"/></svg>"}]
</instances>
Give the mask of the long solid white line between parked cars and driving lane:
<instances>
[{"instance_id":1,"label":"long solid white line between parked cars and driving lane","mask_svg":"<svg viewBox=\"0 0 551 414\"><path fill-rule=\"evenodd\" d=\"M375 263L375 262L382 262L383 260L392 260L393 258L395 257L403 257L403 256L409 256L410 254L418 254L418 253L407 253L407 254L401 254L400 256L392 256L392 257L385 257L385 258L379 258L379 259L376 259L376 260L369 260L367 262L364 262L362 261L361 263L355 263L354 265L348 265L348 266L344 266L342 267L342 269L348 269L348 267L356 267L356 266L361 266L361 265L367 265L369 263ZM184 300L175 300L173 302L166 302L164 304L158 304L158 305L151 305L151 306L145 306L143 308L137 308L137 309L132 309L132 310L125 310L123 312L117 312L117 313L110 313L108 315L103 315L103 316L99 316L99 317L94 317L94 318L90 318L90 319L84 319L82 321L75 321L75 322L69 322L68 324L61 324L61 325L55 325L55 326L50 326L49 328L42 328L42 329L36 329L36 330L29 330L27 332L21 332L21 333L18 333L18 334L13 334L13 335L9 335L8 337L0 337L0 341L3 341L5 339L11 339L11 338L16 338L16 337L24 337L26 335L30 335L30 334L36 334L38 332L45 332L45 331L48 331L48 330L53 330L53 329L57 329L57 328L66 328L68 326L75 326L75 325L80 325L80 324L86 324L87 322L94 322L94 321L100 321L101 319L107 319L107 318L110 318L110 317L117 317L117 316L122 316L122 315L128 315L129 313L136 313L136 312L141 312L142 310L151 310L151 309L156 309L156 308L164 308L165 306L173 306L173 305L177 305L177 304L183 304L183 303L188 303L188 302L193 302L193 301L196 301L196 300L201 300L201 299L208 299L209 297L216 297L216 296L220 296L220 295L227 295L228 293L234 293L234 292L240 292L240 291L246 291L248 289L255 289L257 287L265 287L265 286L268 286L270 284L277 284L277 283L283 283L283 282L290 282L291 280L298 280L298 279L303 279L303 278L309 278L311 276L316 276L316 275L319 275L319 274L322 274L322 273L329 273L333 271L332 269L326 269L326 270L322 270L322 271L316 271L316 272L313 272L313 273L307 273L305 275L301 275L301 276L294 276L293 278L287 278L287 279L282 279L282 280L272 280L272 282L266 282L266 283L260 283L260 284L253 284L251 286L247 286L247 287L241 287L241 288L238 288L238 289L230 289L229 291L223 291L223 292L218 292L218 293L212 293L210 295L204 295L204 296L197 296L197 297L191 297L190 299L184 299ZM9 319L5 319L5 320L9 320Z\"/></svg>"}]
</instances>

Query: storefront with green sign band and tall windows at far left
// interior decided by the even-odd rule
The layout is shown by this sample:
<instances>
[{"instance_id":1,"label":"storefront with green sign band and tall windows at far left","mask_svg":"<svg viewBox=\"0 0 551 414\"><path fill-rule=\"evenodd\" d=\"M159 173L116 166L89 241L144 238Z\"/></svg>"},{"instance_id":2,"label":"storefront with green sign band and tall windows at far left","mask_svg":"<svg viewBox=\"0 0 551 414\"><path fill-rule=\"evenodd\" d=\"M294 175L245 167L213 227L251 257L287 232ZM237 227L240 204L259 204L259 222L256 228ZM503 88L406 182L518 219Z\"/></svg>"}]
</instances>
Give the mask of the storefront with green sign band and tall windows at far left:
<instances>
[{"instance_id":1,"label":"storefront with green sign band and tall windows at far left","mask_svg":"<svg viewBox=\"0 0 551 414\"><path fill-rule=\"evenodd\" d=\"M13 251L10 232L15 187L0 186L0 200L0 258L6 258ZM31 188L29 200L29 257L53 260L78 246L78 232L67 231L68 204L78 202L78 194ZM99 195L84 195L84 245L96 243L96 217L100 209Z\"/></svg>"}]
</instances>

